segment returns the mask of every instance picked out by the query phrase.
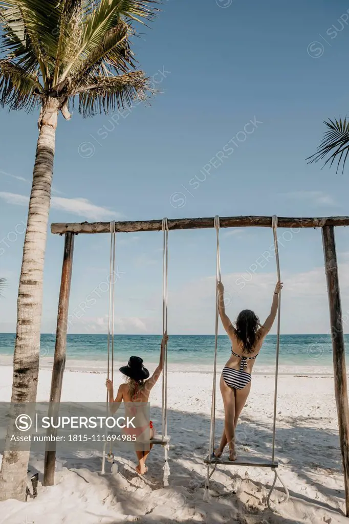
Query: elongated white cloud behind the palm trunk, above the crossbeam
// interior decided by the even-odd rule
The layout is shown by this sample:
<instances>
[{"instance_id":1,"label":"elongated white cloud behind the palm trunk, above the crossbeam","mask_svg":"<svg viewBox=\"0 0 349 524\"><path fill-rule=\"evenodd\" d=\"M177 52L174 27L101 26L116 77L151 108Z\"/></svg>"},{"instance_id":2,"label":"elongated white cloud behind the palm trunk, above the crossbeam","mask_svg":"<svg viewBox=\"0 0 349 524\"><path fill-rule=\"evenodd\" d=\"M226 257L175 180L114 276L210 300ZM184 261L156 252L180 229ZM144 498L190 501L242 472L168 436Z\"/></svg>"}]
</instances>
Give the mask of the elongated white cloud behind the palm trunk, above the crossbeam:
<instances>
[{"instance_id":1,"label":"elongated white cloud behind the palm trunk, above the crossbeam","mask_svg":"<svg viewBox=\"0 0 349 524\"><path fill-rule=\"evenodd\" d=\"M17 193L0 191L0 198L8 204L28 205L29 197ZM58 209L73 215L84 216L89 220L102 220L122 217L121 213L115 213L107 208L95 205L84 198L63 198L62 196L52 196L52 209Z\"/></svg>"}]
</instances>

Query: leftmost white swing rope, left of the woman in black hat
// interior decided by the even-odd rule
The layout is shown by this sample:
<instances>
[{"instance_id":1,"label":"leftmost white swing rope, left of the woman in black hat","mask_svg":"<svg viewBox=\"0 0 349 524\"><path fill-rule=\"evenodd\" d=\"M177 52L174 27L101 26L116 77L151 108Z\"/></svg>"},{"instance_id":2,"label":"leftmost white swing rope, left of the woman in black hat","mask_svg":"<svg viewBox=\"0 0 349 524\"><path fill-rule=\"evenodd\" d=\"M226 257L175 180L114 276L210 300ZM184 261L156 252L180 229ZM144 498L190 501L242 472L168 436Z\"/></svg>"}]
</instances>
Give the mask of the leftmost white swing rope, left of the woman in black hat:
<instances>
[{"instance_id":1,"label":"leftmost white swing rope, left of the woman in black hat","mask_svg":"<svg viewBox=\"0 0 349 524\"><path fill-rule=\"evenodd\" d=\"M115 220L112 220L110 223L110 262L109 262L109 307L108 307L108 339L107 339L107 378L109 379L110 376L112 378L112 382L114 383L114 288L115 288L115 281L114 281L114 275L115 275L115 246L116 246L116 230L115 230ZM110 362L112 359L112 363ZM110 396L109 391L107 391L106 394L106 411L108 413L109 409L109 402L110 402ZM103 459L102 459L102 471L101 473L105 473L105 449L106 449L106 442L104 443L103 447ZM110 451L107 455L108 462L113 462L114 456L112 453L112 444L110 445Z\"/></svg>"}]
</instances>

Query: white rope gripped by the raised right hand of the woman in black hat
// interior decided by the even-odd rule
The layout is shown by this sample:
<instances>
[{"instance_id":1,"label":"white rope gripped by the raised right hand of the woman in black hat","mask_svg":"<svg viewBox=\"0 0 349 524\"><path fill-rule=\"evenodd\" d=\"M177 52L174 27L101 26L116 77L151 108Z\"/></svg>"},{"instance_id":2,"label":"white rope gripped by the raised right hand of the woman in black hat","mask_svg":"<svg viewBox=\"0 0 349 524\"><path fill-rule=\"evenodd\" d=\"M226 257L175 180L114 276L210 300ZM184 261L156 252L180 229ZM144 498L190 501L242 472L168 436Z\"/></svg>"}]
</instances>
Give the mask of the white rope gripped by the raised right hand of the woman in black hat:
<instances>
[{"instance_id":1,"label":"white rope gripped by the raised right hand of the woman in black hat","mask_svg":"<svg viewBox=\"0 0 349 524\"><path fill-rule=\"evenodd\" d=\"M161 230L163 232L163 250L162 250L162 442L167 440L167 311L168 311L168 221L162 219ZM163 485L168 486L168 477L170 475L170 466L168 463L168 451L170 446L168 442L163 445L165 455L165 465L163 466Z\"/></svg>"}]
</instances>

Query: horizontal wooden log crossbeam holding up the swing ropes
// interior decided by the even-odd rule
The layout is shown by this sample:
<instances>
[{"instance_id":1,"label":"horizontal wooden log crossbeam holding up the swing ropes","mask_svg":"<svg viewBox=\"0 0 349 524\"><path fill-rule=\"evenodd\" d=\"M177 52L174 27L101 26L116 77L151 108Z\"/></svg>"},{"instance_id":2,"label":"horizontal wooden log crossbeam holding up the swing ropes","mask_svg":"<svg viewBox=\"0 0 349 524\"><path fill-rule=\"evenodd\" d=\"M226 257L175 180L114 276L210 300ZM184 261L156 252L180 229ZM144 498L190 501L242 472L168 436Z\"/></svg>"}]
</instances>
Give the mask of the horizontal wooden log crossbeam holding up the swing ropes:
<instances>
[{"instance_id":1,"label":"horizontal wooden log crossbeam holding up the swing ropes","mask_svg":"<svg viewBox=\"0 0 349 524\"><path fill-rule=\"evenodd\" d=\"M222 216L221 227L271 227L271 216ZM209 229L214 227L214 218L198 219L170 219L169 230ZM117 233L133 233L140 231L161 231L162 220L138 220L135 222L115 222ZM323 227L323 226L348 226L349 216L327 217L285 217L278 216L278 227ZM62 235L64 233L94 234L110 233L110 222L81 222L81 223L53 223L51 233Z\"/></svg>"}]
</instances>

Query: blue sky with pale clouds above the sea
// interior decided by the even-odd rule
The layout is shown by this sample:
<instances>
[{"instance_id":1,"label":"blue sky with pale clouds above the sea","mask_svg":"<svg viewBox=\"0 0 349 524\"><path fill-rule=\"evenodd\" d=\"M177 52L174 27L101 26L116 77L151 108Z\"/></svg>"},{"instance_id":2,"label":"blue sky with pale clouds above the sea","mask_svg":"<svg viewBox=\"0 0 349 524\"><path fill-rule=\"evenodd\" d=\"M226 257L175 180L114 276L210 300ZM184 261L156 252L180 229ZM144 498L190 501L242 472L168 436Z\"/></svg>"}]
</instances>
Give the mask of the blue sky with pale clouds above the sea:
<instances>
[{"instance_id":1,"label":"blue sky with pale clouds above the sea","mask_svg":"<svg viewBox=\"0 0 349 524\"><path fill-rule=\"evenodd\" d=\"M50 223L347 215L348 167L344 175L336 174L321 170L321 163L308 165L306 157L321 140L323 119L347 113L348 13L349 4L342 1L163 2L159 17L134 46L140 67L160 91L151 105L90 119L75 111L70 122L59 118ZM1 110L0 271L8 286L0 300L0 331L5 332L16 325L36 122L36 114ZM279 235L282 331L325 333L321 232ZM345 314L348 241L346 228L336 230ZM71 333L106 332L109 242L108 235L75 238ZM271 243L271 230L263 228L221 232L232 318L245 307L261 319L268 313L275 260L255 272L250 268ZM214 230L170 232L169 245L169 332L213 333ZM160 332L161 246L161 233L118 235L116 332ZM55 329L62 253L63 239L49 233L42 332ZM79 306L92 292L94 305Z\"/></svg>"}]
</instances>

